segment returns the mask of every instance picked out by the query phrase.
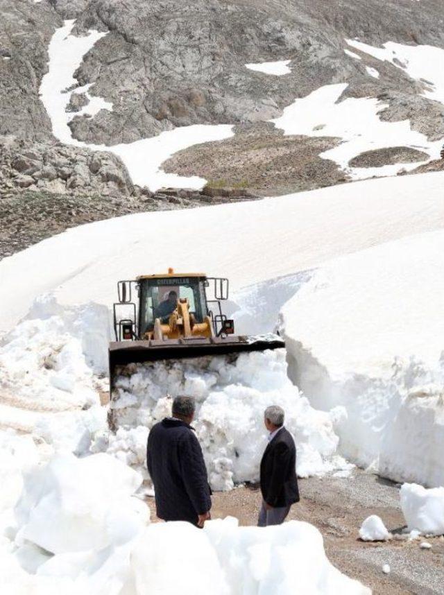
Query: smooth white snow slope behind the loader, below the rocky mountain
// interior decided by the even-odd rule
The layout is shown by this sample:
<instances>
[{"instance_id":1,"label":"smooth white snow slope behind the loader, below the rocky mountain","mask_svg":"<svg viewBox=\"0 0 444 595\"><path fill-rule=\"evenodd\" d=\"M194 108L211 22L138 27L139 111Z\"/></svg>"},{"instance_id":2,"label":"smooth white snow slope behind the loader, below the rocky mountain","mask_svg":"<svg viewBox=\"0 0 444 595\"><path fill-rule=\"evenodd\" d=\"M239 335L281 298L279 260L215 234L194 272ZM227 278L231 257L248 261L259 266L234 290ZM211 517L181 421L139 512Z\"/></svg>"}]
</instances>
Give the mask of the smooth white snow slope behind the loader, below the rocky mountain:
<instances>
[{"instance_id":1,"label":"smooth white snow slope behind the loader, below the rocky mountain","mask_svg":"<svg viewBox=\"0 0 444 595\"><path fill-rule=\"evenodd\" d=\"M56 291L63 304L94 300L109 307L119 279L169 266L230 277L236 290L437 229L444 221L443 181L442 173L366 180L76 227L0 262L0 330L15 325L46 291Z\"/></svg>"}]
</instances>

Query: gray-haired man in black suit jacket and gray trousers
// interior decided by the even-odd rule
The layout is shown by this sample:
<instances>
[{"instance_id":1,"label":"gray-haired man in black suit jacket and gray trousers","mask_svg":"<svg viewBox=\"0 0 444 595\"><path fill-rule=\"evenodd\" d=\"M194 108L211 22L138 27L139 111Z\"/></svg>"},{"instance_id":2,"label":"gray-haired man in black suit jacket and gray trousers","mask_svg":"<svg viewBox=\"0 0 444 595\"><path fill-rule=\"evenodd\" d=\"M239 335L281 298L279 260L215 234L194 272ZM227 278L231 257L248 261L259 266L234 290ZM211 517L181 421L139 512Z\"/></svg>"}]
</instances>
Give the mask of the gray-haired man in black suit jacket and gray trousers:
<instances>
[{"instance_id":1,"label":"gray-haired man in black suit jacket and gray trousers","mask_svg":"<svg viewBox=\"0 0 444 595\"><path fill-rule=\"evenodd\" d=\"M257 526L280 525L291 504L299 501L296 478L296 446L293 436L284 428L284 410L273 405L264 413L264 424L270 432L261 461L262 507Z\"/></svg>"}]
</instances>

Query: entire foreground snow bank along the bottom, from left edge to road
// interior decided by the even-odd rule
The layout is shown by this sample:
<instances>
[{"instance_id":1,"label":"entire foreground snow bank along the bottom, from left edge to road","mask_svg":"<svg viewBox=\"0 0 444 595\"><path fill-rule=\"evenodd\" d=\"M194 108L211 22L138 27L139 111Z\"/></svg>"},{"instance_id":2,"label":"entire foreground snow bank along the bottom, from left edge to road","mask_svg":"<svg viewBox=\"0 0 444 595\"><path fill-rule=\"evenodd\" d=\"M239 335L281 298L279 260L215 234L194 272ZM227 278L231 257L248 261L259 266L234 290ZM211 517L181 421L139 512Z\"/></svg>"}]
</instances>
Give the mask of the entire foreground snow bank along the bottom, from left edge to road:
<instances>
[{"instance_id":1,"label":"entire foreground snow bank along the bottom, from left edge to road","mask_svg":"<svg viewBox=\"0 0 444 595\"><path fill-rule=\"evenodd\" d=\"M23 442L28 451L28 440L17 437L16 448ZM247 528L228 518L203 531L187 523L147 527L148 507L133 497L142 477L105 454L58 455L40 465L33 458L17 471L22 490L14 499L0 483L0 503L8 502L0 515L2 592L369 594L330 564L321 533L307 523Z\"/></svg>"}]
</instances>

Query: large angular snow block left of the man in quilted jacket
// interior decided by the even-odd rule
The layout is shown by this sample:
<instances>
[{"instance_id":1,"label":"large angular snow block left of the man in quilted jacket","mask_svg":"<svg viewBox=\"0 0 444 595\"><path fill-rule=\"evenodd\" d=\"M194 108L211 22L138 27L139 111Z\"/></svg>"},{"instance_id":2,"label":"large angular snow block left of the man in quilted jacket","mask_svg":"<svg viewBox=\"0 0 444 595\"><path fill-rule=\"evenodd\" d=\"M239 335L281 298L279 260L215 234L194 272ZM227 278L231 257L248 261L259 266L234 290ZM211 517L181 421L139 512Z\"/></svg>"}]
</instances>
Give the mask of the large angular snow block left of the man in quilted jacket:
<instances>
[{"instance_id":1,"label":"large angular snow block left of the man in quilted jacket","mask_svg":"<svg viewBox=\"0 0 444 595\"><path fill-rule=\"evenodd\" d=\"M148 508L131 497L141 483L142 476L106 454L55 456L24 476L15 509L16 542L28 541L51 553L127 542L148 519Z\"/></svg>"}]
</instances>

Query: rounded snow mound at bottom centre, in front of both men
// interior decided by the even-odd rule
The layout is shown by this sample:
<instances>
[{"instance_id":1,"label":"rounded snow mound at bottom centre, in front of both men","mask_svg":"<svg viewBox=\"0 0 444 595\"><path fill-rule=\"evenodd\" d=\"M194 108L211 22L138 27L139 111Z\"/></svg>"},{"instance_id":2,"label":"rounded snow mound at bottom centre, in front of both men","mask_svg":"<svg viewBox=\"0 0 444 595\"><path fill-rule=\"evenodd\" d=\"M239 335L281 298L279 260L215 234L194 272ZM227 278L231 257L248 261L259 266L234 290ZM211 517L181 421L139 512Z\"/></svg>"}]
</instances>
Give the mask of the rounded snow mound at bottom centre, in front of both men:
<instances>
[{"instance_id":1,"label":"rounded snow mound at bottom centre, in front of both men","mask_svg":"<svg viewBox=\"0 0 444 595\"><path fill-rule=\"evenodd\" d=\"M171 573L171 559L178 572ZM183 595L370 594L330 564L321 533L300 521L264 529L239 527L228 517L207 521L203 531L180 522L153 524L139 537L131 562L128 595L176 592L178 576Z\"/></svg>"}]
</instances>

